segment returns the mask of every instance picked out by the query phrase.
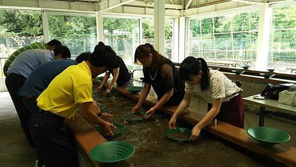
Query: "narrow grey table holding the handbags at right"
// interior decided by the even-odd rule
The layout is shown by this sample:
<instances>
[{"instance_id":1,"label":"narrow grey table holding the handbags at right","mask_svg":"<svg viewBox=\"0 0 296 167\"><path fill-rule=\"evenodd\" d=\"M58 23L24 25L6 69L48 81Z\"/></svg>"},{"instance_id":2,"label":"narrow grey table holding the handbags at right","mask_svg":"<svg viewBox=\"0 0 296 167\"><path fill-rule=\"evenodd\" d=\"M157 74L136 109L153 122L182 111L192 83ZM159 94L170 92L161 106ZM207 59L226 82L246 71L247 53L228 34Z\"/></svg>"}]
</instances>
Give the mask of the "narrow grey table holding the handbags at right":
<instances>
[{"instance_id":1,"label":"narrow grey table holding the handbags at right","mask_svg":"<svg viewBox=\"0 0 296 167\"><path fill-rule=\"evenodd\" d=\"M256 96L256 95L253 95ZM249 96L246 98L243 98L245 102L249 104L255 104L260 106L260 113L259 113L259 126L264 126L264 115L267 111L265 111L265 108L273 109L276 111L284 111L290 114L295 115L296 114L296 107L295 106L289 106L278 103L276 100L261 100L261 99L254 99L253 96Z\"/></svg>"}]
</instances>

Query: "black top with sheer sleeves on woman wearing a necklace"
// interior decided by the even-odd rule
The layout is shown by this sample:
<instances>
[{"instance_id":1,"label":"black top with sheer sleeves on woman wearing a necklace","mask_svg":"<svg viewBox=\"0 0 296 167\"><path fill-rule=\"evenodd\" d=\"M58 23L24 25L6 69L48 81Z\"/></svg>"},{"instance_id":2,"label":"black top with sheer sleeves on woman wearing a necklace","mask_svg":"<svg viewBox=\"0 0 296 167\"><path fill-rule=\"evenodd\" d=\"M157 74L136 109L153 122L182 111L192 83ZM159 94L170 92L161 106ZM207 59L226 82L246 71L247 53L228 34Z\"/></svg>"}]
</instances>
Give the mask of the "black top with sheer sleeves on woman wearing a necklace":
<instances>
[{"instance_id":1,"label":"black top with sheer sleeves on woman wearing a necklace","mask_svg":"<svg viewBox=\"0 0 296 167\"><path fill-rule=\"evenodd\" d=\"M179 78L178 69L171 60L165 58L164 62L158 64L155 72L149 72L149 68L144 67L143 73L144 83L151 84L157 95L157 100L160 100L166 92L173 88L173 96L165 105L178 106L181 103L185 94L185 83Z\"/></svg>"}]
</instances>

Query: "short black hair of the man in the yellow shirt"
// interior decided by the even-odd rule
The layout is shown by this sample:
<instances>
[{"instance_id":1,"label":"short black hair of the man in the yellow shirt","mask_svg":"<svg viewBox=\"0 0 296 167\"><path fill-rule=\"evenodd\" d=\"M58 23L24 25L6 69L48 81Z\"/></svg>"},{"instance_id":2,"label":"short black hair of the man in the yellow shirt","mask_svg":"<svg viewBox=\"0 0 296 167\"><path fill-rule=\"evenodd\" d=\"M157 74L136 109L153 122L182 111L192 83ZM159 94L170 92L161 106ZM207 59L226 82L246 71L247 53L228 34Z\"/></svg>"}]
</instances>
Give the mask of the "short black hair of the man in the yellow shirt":
<instances>
[{"instance_id":1,"label":"short black hair of the man in the yellow shirt","mask_svg":"<svg viewBox=\"0 0 296 167\"><path fill-rule=\"evenodd\" d=\"M115 57L116 53L110 46L101 46L88 57L88 61L96 67L110 66Z\"/></svg>"}]
</instances>

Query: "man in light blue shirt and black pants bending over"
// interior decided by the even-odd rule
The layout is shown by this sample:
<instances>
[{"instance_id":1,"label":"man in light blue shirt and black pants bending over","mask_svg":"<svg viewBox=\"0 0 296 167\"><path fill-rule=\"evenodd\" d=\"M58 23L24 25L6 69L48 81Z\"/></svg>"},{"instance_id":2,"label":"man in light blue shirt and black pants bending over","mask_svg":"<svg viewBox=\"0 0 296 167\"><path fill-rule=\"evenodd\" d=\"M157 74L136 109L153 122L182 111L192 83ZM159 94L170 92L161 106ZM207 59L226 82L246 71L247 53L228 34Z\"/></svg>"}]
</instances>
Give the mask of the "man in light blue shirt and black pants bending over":
<instances>
[{"instance_id":1,"label":"man in light blue shirt and black pants bending over","mask_svg":"<svg viewBox=\"0 0 296 167\"><path fill-rule=\"evenodd\" d=\"M26 138L32 147L36 145L28 128L31 112L24 106L23 99L17 95L17 93L32 70L41 64L60 58L70 58L70 51L67 47L60 46L53 51L40 49L28 50L17 56L7 71L5 85L20 119Z\"/></svg>"}]
</instances>

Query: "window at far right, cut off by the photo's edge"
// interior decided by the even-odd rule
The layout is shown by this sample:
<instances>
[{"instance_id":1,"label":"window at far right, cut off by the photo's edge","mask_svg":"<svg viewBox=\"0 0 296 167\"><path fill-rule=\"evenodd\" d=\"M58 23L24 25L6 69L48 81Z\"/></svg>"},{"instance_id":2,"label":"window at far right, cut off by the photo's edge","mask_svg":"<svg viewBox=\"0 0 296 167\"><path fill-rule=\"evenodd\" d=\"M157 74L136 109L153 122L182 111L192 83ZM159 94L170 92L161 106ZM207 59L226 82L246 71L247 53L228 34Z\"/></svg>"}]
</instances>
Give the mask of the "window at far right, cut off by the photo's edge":
<instances>
[{"instance_id":1,"label":"window at far right, cut off by the photo's edge","mask_svg":"<svg viewBox=\"0 0 296 167\"><path fill-rule=\"evenodd\" d=\"M273 8L268 66L278 71L296 64L296 5Z\"/></svg>"}]
</instances>

